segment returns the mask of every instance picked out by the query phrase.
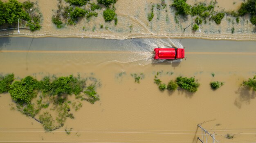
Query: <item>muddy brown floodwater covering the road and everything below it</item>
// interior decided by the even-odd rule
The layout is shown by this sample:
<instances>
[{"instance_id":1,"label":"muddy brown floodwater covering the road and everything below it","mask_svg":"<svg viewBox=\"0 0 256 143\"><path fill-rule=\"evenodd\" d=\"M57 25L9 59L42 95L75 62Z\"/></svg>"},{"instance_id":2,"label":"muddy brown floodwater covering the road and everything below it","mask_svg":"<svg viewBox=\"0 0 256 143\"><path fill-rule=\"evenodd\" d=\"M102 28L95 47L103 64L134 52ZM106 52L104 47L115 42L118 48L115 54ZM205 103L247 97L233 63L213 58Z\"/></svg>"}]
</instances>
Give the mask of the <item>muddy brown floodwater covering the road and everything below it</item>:
<instances>
[{"instance_id":1,"label":"muddy brown floodwater covering the road and everything below it","mask_svg":"<svg viewBox=\"0 0 256 143\"><path fill-rule=\"evenodd\" d=\"M181 41L182 62L154 62L153 48ZM41 124L16 110L9 94L0 96L2 143L199 143L197 125L216 133L221 143L256 141L255 92L240 88L256 75L256 42L195 39L104 40L83 38L0 38L0 72L27 75L93 73L100 79L100 101L83 102L63 128L45 132ZM177 76L195 77L198 92L159 91L154 75L164 83ZM119 73L125 72L122 76ZM168 73L167 73L168 72ZM170 74L173 72L173 74ZM131 73L144 73L140 84ZM211 73L215 73L212 77ZM211 90L210 81L225 85ZM70 135L65 128L73 128ZM226 139L227 134L235 134ZM209 136L208 136L209 138ZM210 138L208 141L212 141Z\"/></svg>"}]
</instances>

